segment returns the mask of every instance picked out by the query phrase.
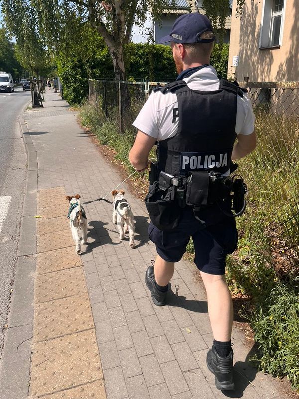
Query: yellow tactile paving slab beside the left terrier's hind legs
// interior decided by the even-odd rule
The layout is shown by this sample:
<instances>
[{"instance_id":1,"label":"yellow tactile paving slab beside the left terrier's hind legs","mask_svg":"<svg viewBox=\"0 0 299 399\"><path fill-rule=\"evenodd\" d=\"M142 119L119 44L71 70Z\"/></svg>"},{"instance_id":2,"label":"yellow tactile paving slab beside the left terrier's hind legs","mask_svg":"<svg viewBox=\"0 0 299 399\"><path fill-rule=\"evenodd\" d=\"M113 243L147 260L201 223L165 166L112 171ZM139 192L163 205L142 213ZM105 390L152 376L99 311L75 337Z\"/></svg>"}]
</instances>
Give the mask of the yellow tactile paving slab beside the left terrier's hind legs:
<instances>
[{"instance_id":1,"label":"yellow tactile paving slab beside the left terrier's hind legs","mask_svg":"<svg viewBox=\"0 0 299 399\"><path fill-rule=\"evenodd\" d=\"M75 241L73 240L72 233L69 228L67 230L55 231L54 233L42 235L37 234L37 252L52 251L53 249L65 248L74 245ZM81 246L83 250L83 244Z\"/></svg>"}]
</instances>

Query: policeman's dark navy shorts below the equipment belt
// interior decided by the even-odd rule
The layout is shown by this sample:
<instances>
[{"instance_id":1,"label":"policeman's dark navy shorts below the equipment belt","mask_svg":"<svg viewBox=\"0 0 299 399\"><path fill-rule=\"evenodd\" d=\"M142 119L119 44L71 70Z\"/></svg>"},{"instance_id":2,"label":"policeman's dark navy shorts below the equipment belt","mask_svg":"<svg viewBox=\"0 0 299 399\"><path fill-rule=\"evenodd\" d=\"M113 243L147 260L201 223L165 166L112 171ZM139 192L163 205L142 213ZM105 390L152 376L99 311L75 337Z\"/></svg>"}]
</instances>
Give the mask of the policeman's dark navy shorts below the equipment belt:
<instances>
[{"instance_id":1,"label":"policeman's dark navy shorts below the equipment belt","mask_svg":"<svg viewBox=\"0 0 299 399\"><path fill-rule=\"evenodd\" d=\"M225 216L219 208L210 208L201 214L206 227L192 211L184 209L174 230L161 231L149 224L149 239L156 245L158 255L167 262L178 262L186 251L190 237L193 239L194 263L199 270L215 275L225 273L227 254L233 253L238 243L234 218Z\"/></svg>"}]
</instances>

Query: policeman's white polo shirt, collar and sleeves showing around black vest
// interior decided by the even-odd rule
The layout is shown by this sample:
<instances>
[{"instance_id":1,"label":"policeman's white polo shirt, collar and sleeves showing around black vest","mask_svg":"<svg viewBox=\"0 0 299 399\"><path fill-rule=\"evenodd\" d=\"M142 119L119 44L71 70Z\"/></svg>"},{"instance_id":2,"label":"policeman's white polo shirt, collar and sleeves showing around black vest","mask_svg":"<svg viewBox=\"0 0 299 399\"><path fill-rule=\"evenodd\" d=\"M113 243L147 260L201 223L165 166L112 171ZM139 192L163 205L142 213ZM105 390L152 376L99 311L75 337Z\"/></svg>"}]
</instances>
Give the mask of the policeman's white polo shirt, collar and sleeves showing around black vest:
<instances>
[{"instance_id":1,"label":"policeman's white polo shirt, collar and sleeves showing around black vest","mask_svg":"<svg viewBox=\"0 0 299 399\"><path fill-rule=\"evenodd\" d=\"M209 65L183 79L190 89L202 91L219 90L219 79L215 69ZM173 108L178 108L175 93L160 91L152 92L149 99L133 122L138 130L157 139L157 141L175 136L178 130L178 120L172 123ZM254 131L255 116L252 105L246 93L237 96L236 133L248 135Z\"/></svg>"}]
</instances>

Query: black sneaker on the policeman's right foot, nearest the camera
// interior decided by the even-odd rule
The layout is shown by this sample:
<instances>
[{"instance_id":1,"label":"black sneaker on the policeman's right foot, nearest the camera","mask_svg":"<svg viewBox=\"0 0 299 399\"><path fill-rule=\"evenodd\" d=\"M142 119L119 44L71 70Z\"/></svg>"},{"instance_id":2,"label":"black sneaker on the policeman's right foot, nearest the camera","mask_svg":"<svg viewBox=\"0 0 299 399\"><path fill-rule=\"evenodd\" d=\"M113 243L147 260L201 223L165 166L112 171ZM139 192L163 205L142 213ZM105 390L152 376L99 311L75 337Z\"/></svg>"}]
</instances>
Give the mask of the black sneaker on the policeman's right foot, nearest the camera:
<instances>
[{"instance_id":1,"label":"black sneaker on the policeman's right foot, nearest the camera","mask_svg":"<svg viewBox=\"0 0 299 399\"><path fill-rule=\"evenodd\" d=\"M207 366L215 374L215 385L218 390L231 391L235 389L233 382L233 350L225 358L220 356L214 345L207 353Z\"/></svg>"}]
</instances>

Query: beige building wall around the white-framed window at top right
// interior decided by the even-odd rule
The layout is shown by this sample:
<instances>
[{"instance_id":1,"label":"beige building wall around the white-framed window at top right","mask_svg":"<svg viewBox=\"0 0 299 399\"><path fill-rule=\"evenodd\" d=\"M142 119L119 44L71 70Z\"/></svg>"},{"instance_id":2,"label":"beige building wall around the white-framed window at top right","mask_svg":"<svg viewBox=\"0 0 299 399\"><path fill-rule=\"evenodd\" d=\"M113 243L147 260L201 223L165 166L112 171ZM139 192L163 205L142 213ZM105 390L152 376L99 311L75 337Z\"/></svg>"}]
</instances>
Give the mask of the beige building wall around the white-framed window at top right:
<instances>
[{"instance_id":1,"label":"beige building wall around the white-framed window at top right","mask_svg":"<svg viewBox=\"0 0 299 399\"><path fill-rule=\"evenodd\" d=\"M245 0L241 17L233 1L228 76L251 82L299 81L299 0L284 0L280 48L259 49L262 13L267 0ZM238 66L233 57L239 56Z\"/></svg>"}]
</instances>

